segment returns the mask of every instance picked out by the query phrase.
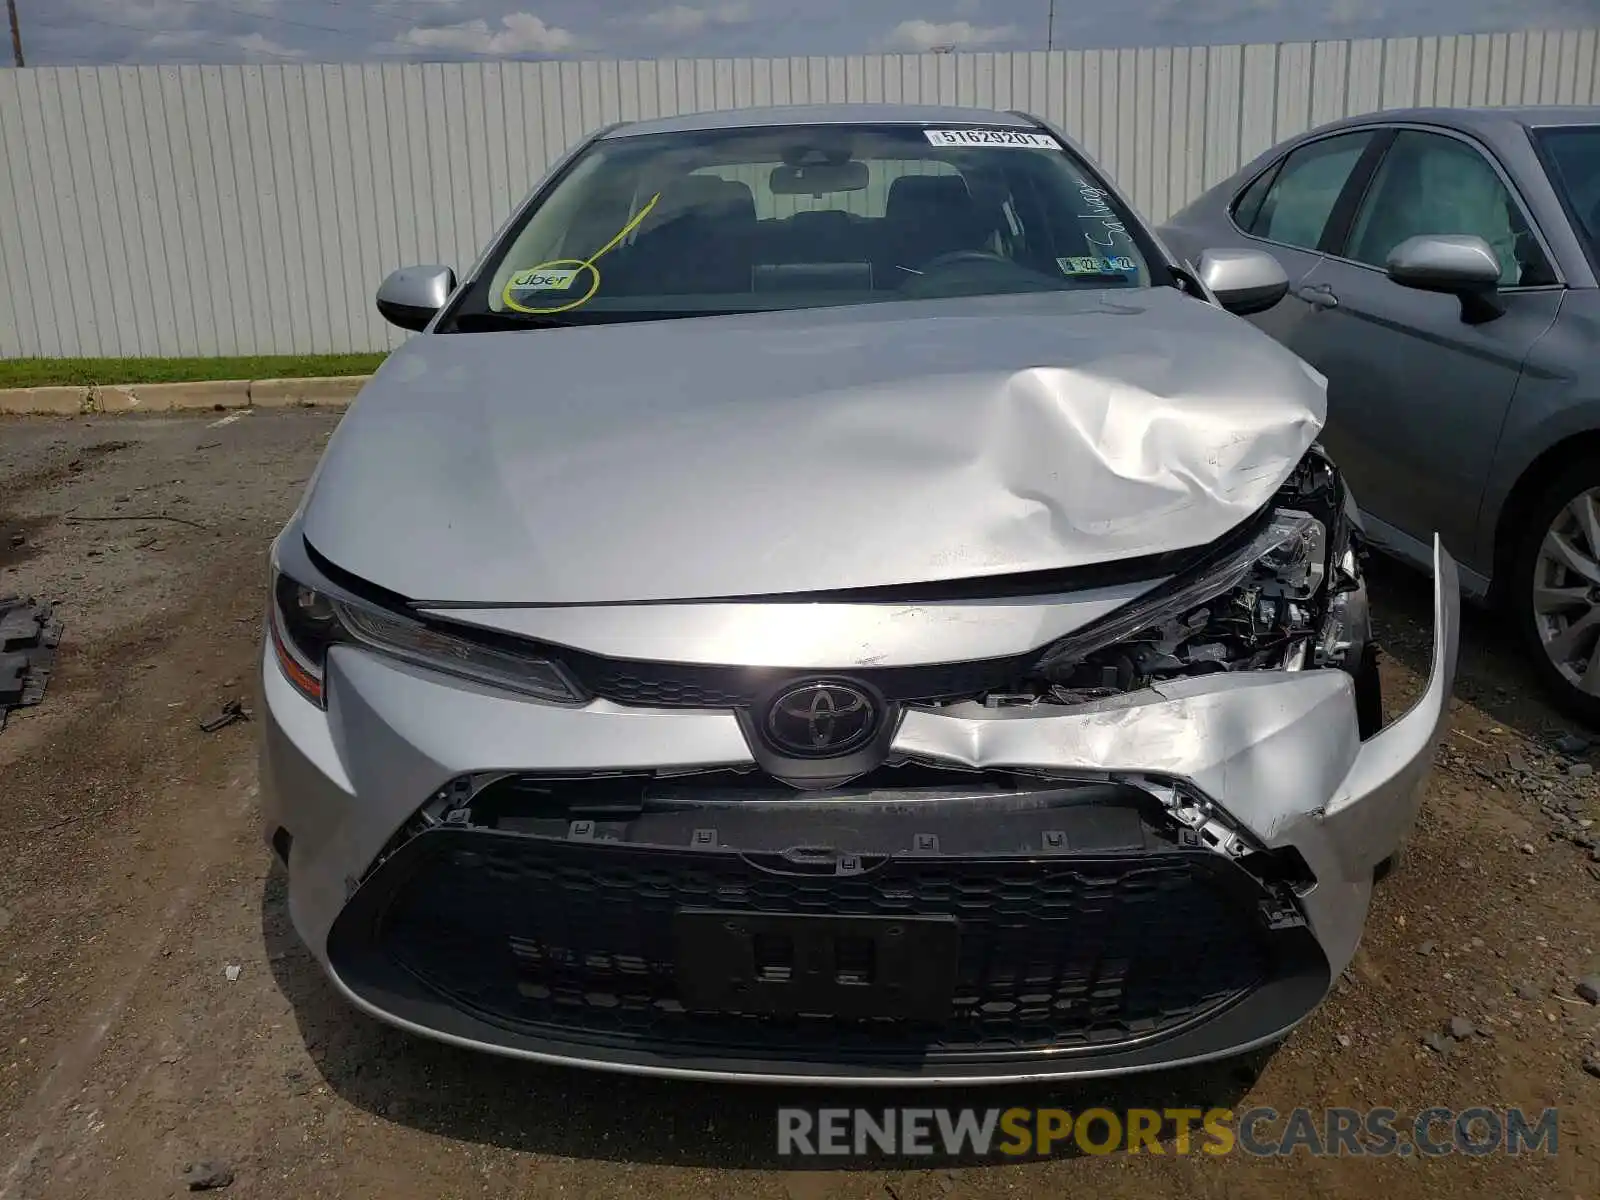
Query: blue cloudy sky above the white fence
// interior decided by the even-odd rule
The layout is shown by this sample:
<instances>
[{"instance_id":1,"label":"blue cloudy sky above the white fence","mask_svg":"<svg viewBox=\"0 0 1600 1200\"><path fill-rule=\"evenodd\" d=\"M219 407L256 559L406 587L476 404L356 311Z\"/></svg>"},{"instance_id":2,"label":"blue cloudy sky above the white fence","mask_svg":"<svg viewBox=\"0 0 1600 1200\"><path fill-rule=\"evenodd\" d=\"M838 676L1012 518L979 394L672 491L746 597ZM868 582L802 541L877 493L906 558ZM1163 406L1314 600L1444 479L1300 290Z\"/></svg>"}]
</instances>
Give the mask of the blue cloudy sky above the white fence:
<instances>
[{"instance_id":1,"label":"blue cloudy sky above the white fence","mask_svg":"<svg viewBox=\"0 0 1600 1200\"><path fill-rule=\"evenodd\" d=\"M1600 0L16 0L29 66L1058 50L1600 26ZM5 43L0 42L0 61Z\"/></svg>"}]
</instances>

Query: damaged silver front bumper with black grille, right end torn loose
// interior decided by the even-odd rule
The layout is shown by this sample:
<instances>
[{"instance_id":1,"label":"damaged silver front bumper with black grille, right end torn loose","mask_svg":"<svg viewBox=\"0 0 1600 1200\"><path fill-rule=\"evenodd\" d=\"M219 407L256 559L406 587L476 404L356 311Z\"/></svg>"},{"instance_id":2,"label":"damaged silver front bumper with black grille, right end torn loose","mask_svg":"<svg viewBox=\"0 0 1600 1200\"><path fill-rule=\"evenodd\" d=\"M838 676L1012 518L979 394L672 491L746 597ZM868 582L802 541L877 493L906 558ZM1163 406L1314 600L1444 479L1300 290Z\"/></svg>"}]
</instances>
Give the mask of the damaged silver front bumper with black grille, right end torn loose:
<instances>
[{"instance_id":1,"label":"damaged silver front bumper with black grille, right end torn loose","mask_svg":"<svg viewBox=\"0 0 1600 1200\"><path fill-rule=\"evenodd\" d=\"M936 786L891 797L696 792L754 765L731 710L539 706L336 648L322 712L267 654L266 834L334 984L464 1046L835 1083L1205 1061L1285 1035L1355 952L1448 715L1459 602L1438 546L1434 578L1427 688L1366 742L1338 670L914 707L891 760ZM558 776L674 771L682 802L550 808ZM894 1019L850 1011L843 974L774 1014L766 976L718 968L765 955L789 981L814 936L894 981Z\"/></svg>"}]
</instances>

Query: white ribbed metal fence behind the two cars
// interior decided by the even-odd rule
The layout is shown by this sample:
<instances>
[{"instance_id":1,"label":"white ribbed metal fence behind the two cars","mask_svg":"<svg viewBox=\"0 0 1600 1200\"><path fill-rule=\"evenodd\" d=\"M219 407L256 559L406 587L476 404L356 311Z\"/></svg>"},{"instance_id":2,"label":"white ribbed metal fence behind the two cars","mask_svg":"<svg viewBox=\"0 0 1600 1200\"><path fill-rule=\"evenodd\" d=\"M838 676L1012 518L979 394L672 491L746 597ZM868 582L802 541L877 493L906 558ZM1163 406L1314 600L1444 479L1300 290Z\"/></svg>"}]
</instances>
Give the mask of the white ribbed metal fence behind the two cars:
<instances>
[{"instance_id":1,"label":"white ribbed metal fence behind the two cars","mask_svg":"<svg viewBox=\"0 0 1600 1200\"><path fill-rule=\"evenodd\" d=\"M1413 104L1600 102L1600 30L1016 54L0 70L0 357L386 349L616 120L810 101L1027 109L1162 219L1280 138Z\"/></svg>"}]
</instances>

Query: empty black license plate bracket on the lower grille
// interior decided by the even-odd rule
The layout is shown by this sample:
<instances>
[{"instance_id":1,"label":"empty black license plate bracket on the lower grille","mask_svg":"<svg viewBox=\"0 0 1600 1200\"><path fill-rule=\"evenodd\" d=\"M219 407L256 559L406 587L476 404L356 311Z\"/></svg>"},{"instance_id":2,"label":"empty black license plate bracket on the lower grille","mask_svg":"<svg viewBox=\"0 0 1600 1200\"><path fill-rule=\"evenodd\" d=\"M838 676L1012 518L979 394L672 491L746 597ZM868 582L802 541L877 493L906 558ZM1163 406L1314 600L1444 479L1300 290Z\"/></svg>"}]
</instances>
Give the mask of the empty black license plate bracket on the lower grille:
<instances>
[{"instance_id":1,"label":"empty black license plate bracket on the lower grille","mask_svg":"<svg viewBox=\"0 0 1600 1200\"><path fill-rule=\"evenodd\" d=\"M758 1016L950 1014L955 917L853 917L680 909L678 998L690 1011Z\"/></svg>"}]
</instances>

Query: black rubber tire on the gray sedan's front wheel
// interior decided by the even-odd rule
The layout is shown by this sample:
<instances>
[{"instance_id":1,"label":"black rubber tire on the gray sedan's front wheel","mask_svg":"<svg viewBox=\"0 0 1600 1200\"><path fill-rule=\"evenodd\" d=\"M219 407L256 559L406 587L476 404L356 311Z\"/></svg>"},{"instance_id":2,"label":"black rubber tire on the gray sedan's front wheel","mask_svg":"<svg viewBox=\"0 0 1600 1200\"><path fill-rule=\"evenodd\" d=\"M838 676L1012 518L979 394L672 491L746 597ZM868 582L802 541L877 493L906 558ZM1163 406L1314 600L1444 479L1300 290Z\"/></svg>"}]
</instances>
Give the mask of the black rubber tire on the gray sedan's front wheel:
<instances>
[{"instance_id":1,"label":"black rubber tire on the gray sedan's front wheel","mask_svg":"<svg viewBox=\"0 0 1600 1200\"><path fill-rule=\"evenodd\" d=\"M1579 506L1586 504L1592 506L1587 522L1579 518ZM1584 574L1546 550L1552 533L1578 552ZM1506 598L1517 637L1550 699L1578 720L1600 728L1600 662L1595 661L1600 658L1600 462L1573 462L1552 478L1528 506L1515 536ZM1552 606L1546 600L1536 605L1536 589L1562 592L1570 597L1568 603ZM1579 622L1586 632L1563 646L1562 634ZM1592 680L1587 686L1581 682L1586 677Z\"/></svg>"}]
</instances>

